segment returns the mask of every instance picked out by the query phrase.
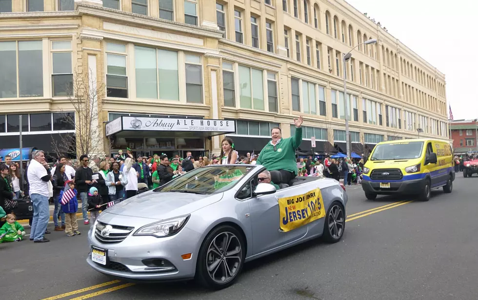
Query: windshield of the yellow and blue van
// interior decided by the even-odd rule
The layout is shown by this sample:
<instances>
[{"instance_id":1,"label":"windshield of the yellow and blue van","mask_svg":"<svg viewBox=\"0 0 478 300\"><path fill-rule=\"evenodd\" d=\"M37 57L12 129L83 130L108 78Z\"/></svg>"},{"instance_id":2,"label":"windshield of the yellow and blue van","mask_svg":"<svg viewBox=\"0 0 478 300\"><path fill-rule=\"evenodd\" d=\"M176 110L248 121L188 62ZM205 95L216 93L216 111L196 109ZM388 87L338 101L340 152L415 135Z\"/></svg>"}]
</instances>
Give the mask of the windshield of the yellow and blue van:
<instances>
[{"instance_id":1,"label":"windshield of the yellow and blue van","mask_svg":"<svg viewBox=\"0 0 478 300\"><path fill-rule=\"evenodd\" d=\"M413 159L421 156L423 142L378 144L370 160Z\"/></svg>"}]
</instances>

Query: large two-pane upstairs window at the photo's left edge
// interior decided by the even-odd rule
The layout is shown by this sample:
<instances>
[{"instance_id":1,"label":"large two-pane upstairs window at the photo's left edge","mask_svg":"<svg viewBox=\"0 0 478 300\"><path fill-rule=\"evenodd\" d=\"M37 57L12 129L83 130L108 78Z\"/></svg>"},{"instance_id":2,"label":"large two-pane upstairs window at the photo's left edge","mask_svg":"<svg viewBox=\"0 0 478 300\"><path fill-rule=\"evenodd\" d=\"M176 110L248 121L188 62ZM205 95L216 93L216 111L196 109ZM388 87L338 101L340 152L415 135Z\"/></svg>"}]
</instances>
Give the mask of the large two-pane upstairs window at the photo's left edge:
<instances>
[{"instance_id":1,"label":"large two-pane upstairs window at the photo's left edge","mask_svg":"<svg viewBox=\"0 0 478 300\"><path fill-rule=\"evenodd\" d=\"M42 41L0 42L0 98L42 97Z\"/></svg>"}]
</instances>

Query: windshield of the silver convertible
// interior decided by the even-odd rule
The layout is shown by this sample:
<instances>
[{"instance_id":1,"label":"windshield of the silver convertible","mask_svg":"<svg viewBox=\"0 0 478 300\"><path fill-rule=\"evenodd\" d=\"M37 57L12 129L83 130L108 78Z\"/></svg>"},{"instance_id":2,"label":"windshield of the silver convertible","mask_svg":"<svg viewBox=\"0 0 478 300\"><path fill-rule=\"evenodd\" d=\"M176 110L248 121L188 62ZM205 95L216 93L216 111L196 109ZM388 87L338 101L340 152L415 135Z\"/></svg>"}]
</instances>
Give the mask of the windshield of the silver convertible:
<instances>
[{"instance_id":1,"label":"windshield of the silver convertible","mask_svg":"<svg viewBox=\"0 0 478 300\"><path fill-rule=\"evenodd\" d=\"M202 167L187 172L167 184L156 188L155 192L182 192L209 195L224 192L234 187L254 166L216 165Z\"/></svg>"}]
</instances>

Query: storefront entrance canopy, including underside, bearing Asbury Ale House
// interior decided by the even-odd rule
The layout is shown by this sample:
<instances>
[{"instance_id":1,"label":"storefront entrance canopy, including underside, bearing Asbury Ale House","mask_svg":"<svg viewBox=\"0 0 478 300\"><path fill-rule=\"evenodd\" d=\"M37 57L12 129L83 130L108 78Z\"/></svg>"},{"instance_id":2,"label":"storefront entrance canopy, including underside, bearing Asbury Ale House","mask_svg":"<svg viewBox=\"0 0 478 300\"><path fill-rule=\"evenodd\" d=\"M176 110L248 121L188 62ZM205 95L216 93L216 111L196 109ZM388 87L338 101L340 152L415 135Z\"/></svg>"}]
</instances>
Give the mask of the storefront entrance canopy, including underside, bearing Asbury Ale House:
<instances>
[{"instance_id":1,"label":"storefront entrance canopy, including underside, bearing Asbury Ale House","mask_svg":"<svg viewBox=\"0 0 478 300\"><path fill-rule=\"evenodd\" d=\"M121 116L106 124L106 136L127 136L134 132L138 136L155 136L159 131L174 132L177 137L215 136L236 132L234 120L156 118Z\"/></svg>"}]
</instances>

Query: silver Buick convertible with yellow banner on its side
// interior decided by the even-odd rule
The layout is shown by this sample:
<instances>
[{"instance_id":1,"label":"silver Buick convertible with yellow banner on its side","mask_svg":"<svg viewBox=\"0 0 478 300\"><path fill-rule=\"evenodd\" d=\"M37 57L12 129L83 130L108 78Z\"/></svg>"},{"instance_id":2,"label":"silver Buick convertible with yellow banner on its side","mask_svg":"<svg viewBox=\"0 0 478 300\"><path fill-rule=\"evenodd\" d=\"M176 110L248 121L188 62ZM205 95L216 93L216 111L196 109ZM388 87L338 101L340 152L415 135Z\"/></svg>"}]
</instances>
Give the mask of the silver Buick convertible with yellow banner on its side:
<instances>
[{"instance_id":1,"label":"silver Buick convertible with yellow banner on its side","mask_svg":"<svg viewBox=\"0 0 478 300\"><path fill-rule=\"evenodd\" d=\"M132 281L196 278L221 289L245 262L345 229L345 189L334 179L297 177L276 190L256 165L194 169L103 211L88 234L87 262Z\"/></svg>"}]
</instances>

